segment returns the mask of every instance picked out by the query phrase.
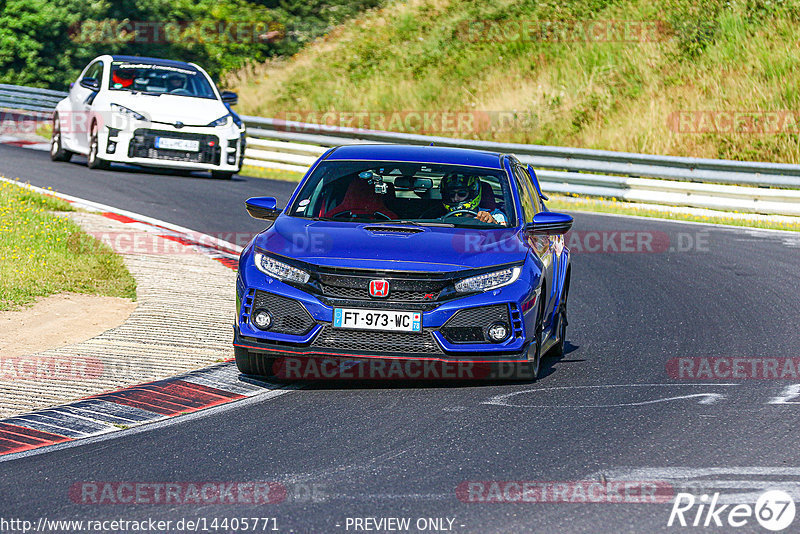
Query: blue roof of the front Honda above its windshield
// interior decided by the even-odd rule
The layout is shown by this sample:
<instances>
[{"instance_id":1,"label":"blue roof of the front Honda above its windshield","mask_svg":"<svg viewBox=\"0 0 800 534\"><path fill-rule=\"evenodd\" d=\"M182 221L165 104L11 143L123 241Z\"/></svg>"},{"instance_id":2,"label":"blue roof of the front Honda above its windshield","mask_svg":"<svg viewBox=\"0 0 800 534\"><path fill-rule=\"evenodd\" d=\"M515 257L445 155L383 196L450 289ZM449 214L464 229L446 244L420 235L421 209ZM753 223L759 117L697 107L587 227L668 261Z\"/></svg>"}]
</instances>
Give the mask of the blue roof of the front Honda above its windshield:
<instances>
[{"instance_id":1,"label":"blue roof of the front Honda above its windshield","mask_svg":"<svg viewBox=\"0 0 800 534\"><path fill-rule=\"evenodd\" d=\"M336 148L327 160L402 161L408 163L443 163L502 169L498 152L424 145L346 145Z\"/></svg>"}]
</instances>

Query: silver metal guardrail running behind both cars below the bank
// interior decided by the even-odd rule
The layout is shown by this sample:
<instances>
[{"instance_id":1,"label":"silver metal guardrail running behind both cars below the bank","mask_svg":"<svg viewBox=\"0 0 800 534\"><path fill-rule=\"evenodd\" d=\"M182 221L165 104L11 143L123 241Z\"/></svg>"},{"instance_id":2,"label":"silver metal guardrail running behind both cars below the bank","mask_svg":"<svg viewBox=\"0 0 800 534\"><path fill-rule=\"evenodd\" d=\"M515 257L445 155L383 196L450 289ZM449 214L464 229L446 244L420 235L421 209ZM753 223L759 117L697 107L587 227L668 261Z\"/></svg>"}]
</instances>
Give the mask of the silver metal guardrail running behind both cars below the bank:
<instances>
[{"instance_id":1,"label":"silver metal guardrail running behind both cars below the bank","mask_svg":"<svg viewBox=\"0 0 800 534\"><path fill-rule=\"evenodd\" d=\"M52 113L67 93L0 84L0 108ZM402 143L515 154L546 192L800 216L800 165L454 139L242 116L246 165L305 172L328 147Z\"/></svg>"}]
</instances>

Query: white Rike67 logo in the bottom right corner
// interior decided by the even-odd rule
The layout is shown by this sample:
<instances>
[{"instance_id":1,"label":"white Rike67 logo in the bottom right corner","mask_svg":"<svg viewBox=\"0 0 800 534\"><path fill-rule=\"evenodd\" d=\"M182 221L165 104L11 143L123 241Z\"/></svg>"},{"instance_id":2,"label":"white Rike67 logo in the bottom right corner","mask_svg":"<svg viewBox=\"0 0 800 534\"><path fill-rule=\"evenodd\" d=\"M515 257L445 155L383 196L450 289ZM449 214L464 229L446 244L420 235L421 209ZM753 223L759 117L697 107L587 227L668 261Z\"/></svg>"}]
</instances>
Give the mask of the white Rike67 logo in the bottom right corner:
<instances>
[{"instance_id":1,"label":"white Rike67 logo in the bottom right corner","mask_svg":"<svg viewBox=\"0 0 800 534\"><path fill-rule=\"evenodd\" d=\"M767 530L779 532L794 521L795 505L791 495L781 490L762 493L755 505L719 504L720 494L699 499L691 493L678 493L669 514L667 526L743 527L755 519Z\"/></svg>"}]
</instances>

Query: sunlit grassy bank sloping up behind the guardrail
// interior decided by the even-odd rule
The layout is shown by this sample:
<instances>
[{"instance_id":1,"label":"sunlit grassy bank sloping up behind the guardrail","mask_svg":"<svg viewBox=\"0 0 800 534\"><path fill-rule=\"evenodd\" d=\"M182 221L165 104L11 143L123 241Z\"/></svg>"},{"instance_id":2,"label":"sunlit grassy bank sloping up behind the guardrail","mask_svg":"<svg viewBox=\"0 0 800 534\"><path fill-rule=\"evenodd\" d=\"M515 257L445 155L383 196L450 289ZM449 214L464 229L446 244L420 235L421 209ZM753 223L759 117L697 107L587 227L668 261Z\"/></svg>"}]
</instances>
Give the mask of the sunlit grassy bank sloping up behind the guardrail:
<instances>
[{"instance_id":1,"label":"sunlit grassy bank sloping up behind the guardrail","mask_svg":"<svg viewBox=\"0 0 800 534\"><path fill-rule=\"evenodd\" d=\"M798 163L798 20L797 0L409 0L227 85L244 114L477 112L490 127L430 133ZM727 112L746 113L726 130Z\"/></svg>"}]
</instances>

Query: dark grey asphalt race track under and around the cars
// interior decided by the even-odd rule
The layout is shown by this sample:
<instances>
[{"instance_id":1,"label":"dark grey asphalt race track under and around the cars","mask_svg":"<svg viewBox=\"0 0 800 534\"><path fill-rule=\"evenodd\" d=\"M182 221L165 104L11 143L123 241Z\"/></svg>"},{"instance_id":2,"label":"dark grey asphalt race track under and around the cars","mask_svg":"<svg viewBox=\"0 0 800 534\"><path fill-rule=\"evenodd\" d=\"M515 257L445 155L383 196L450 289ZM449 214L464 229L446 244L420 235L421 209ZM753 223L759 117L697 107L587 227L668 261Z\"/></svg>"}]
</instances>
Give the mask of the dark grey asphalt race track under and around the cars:
<instances>
[{"instance_id":1,"label":"dark grey asphalt race track under and around the cars","mask_svg":"<svg viewBox=\"0 0 800 534\"><path fill-rule=\"evenodd\" d=\"M89 171L12 147L0 147L0 174L215 234L257 231L244 199L285 203L293 188L246 177ZM668 527L670 503L581 502L574 488L659 482L698 499L720 492L724 502L752 505L753 492L774 487L797 498L800 394L791 386L800 376L790 369L777 379L685 379L670 360L800 356L800 236L574 215L568 354L547 360L539 381L307 384L2 461L0 515L208 526L214 518L276 518L283 532L366 531L354 518L394 517L410 518L411 532L765 532L752 517L736 529ZM620 232L656 245L622 252L629 247ZM91 481L266 481L287 494L253 505L87 504L70 493ZM472 487L528 481L572 490L551 499L559 502L465 502L477 500L463 491L476 481L483 486ZM230 525L218 531L235 531ZM390 524L381 525L373 531Z\"/></svg>"}]
</instances>

